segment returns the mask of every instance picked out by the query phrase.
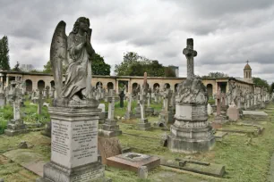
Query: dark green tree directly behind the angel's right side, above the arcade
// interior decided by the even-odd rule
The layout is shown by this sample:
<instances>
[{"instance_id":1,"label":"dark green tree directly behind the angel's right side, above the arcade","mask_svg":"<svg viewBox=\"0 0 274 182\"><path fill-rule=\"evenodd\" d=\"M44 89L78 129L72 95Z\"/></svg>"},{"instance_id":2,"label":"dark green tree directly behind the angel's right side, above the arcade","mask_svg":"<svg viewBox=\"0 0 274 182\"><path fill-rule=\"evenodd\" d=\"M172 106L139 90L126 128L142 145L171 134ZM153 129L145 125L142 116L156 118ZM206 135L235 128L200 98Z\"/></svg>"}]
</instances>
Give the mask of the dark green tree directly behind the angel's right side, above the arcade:
<instances>
[{"instance_id":1,"label":"dark green tree directly behind the angel's right side, above the arcade","mask_svg":"<svg viewBox=\"0 0 274 182\"><path fill-rule=\"evenodd\" d=\"M92 57L91 70L93 75L110 75L110 65L99 54Z\"/></svg>"}]
</instances>

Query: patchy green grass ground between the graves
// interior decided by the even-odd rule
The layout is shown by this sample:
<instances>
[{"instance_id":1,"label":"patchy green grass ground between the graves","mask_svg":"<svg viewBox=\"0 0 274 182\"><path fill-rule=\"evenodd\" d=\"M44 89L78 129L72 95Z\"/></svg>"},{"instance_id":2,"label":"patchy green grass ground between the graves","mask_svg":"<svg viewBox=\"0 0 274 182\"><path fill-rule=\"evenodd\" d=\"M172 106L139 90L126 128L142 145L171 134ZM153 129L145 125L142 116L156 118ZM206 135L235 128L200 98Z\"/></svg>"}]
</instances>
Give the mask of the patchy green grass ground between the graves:
<instances>
[{"instance_id":1,"label":"patchy green grass ground between the graves","mask_svg":"<svg viewBox=\"0 0 274 182\"><path fill-rule=\"evenodd\" d=\"M133 108L136 103L133 103ZM151 104L151 107L160 111L161 104ZM274 104L268 105L267 112L274 113ZM106 105L107 109L107 105ZM119 108L116 103L116 117L124 116L124 109ZM49 120L47 107L43 108L42 115L37 115L37 105L31 105L25 102L25 107L21 108L24 112L23 119L27 124L36 123L39 120L45 123ZM0 109L0 132L4 130L5 123L13 117L11 106L5 106ZM135 124L138 120L118 120L122 136L118 136L123 147L131 147L133 152L160 155L168 159L190 158L192 160L207 161L211 163L222 164L226 166L226 174L223 178L214 178L197 173L179 171L167 167L158 167L149 172L148 179L139 179L133 172L126 170L117 170L106 167L106 176L112 178L115 182L124 181L254 181L263 182L269 178L270 159L274 153L274 116L270 115L270 121L253 120L256 126L264 128L261 135L254 133L228 133L222 141L217 141L214 149L208 153L182 154L171 153L167 147L160 145L160 137L169 133L168 130L153 128L151 131L137 130ZM158 117L150 117L149 121L153 122ZM212 120L212 118L210 118ZM237 123L247 121L239 120ZM236 123L227 124L223 129L246 130L256 129L253 126L241 126ZM18 149L21 141L26 141L28 149ZM50 138L42 136L40 131L32 131L28 134L19 136L0 135L0 178L10 182L35 181L38 175L22 167L30 161L49 161L50 160ZM274 162L274 161L273 161ZM274 173L274 171L273 171Z\"/></svg>"}]
</instances>

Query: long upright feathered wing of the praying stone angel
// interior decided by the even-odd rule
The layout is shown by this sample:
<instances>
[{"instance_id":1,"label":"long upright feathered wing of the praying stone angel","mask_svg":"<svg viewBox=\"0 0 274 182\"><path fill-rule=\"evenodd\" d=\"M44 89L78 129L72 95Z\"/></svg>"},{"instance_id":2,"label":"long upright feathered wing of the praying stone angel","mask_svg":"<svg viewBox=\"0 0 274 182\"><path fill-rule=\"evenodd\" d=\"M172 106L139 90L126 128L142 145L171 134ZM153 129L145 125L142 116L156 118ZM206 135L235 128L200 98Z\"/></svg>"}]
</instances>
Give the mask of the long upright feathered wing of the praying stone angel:
<instances>
[{"instance_id":1,"label":"long upright feathered wing of the praying stone angel","mask_svg":"<svg viewBox=\"0 0 274 182\"><path fill-rule=\"evenodd\" d=\"M63 62L66 62L67 37L65 35L65 22L60 21L56 26L50 46L50 62L53 69L56 96L61 97L63 87Z\"/></svg>"}]
</instances>

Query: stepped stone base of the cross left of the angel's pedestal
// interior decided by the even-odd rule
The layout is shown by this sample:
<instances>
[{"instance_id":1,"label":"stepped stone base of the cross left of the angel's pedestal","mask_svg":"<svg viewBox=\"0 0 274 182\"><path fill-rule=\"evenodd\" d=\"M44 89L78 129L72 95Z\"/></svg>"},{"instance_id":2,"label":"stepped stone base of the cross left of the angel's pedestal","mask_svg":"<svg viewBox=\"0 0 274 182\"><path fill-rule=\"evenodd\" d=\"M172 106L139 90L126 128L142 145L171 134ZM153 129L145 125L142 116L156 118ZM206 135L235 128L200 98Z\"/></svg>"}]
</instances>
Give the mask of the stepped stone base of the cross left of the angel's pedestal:
<instances>
[{"instance_id":1,"label":"stepped stone base of the cross left of the angel's pedestal","mask_svg":"<svg viewBox=\"0 0 274 182\"><path fill-rule=\"evenodd\" d=\"M6 136L16 136L28 132L29 130L21 119L10 120L7 129L4 129L4 134Z\"/></svg>"}]
</instances>

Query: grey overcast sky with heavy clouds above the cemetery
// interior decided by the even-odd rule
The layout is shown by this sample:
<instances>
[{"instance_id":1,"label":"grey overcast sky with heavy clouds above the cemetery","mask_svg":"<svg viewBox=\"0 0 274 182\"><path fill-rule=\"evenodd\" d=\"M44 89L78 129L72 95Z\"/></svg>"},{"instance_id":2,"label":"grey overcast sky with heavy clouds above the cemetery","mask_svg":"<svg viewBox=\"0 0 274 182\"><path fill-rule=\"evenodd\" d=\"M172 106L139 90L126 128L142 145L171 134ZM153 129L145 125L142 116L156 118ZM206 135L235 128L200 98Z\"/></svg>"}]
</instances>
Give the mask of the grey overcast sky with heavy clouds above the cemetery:
<instances>
[{"instance_id":1,"label":"grey overcast sky with heavy clouds above the cemetery","mask_svg":"<svg viewBox=\"0 0 274 182\"><path fill-rule=\"evenodd\" d=\"M137 52L163 65L179 66L193 37L195 74L221 71L243 77L247 60L253 77L274 82L273 0L0 0L0 37L9 37L10 62L42 70L59 21L66 34L80 16L90 19L92 45L112 66L126 52Z\"/></svg>"}]
</instances>

